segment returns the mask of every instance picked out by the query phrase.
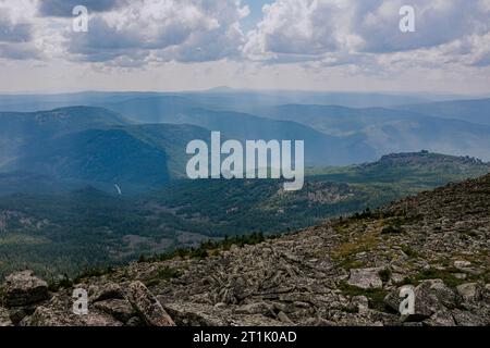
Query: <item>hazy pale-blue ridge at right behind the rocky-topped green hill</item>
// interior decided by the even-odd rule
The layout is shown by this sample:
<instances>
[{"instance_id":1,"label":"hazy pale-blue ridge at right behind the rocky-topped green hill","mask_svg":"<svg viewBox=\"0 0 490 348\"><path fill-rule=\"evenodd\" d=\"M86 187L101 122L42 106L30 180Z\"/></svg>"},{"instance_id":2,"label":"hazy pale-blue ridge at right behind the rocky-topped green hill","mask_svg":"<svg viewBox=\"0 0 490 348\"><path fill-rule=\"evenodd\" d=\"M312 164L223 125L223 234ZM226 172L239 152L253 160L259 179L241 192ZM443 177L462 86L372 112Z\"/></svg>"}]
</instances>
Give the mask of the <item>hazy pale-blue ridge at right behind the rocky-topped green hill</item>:
<instances>
[{"instance_id":1,"label":"hazy pale-blue ridge at right behind the rocky-topped green hill","mask_svg":"<svg viewBox=\"0 0 490 348\"><path fill-rule=\"evenodd\" d=\"M482 109L482 113L489 109ZM357 135L376 157L389 152L428 149L490 160L490 126L462 119L438 117L406 108L352 109L332 105L289 104L256 110L275 120L294 120L324 134Z\"/></svg>"}]
</instances>

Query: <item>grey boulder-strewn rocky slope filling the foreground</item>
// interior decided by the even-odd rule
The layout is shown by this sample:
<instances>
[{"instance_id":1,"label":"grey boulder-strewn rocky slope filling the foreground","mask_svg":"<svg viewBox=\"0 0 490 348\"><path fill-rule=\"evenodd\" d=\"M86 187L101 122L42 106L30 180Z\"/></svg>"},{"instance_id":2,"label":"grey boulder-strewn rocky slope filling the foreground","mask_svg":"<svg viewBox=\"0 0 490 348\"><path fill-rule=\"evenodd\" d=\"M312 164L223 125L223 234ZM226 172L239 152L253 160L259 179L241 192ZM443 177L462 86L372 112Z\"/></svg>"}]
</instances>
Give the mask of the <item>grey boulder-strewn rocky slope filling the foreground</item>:
<instances>
[{"instance_id":1,"label":"grey boulder-strewn rocky slope filling the foreground","mask_svg":"<svg viewBox=\"0 0 490 348\"><path fill-rule=\"evenodd\" d=\"M48 291L2 286L0 325L490 325L490 175L200 258L143 261ZM414 308L401 313L401 289ZM74 289L87 294L74 313Z\"/></svg>"}]
</instances>

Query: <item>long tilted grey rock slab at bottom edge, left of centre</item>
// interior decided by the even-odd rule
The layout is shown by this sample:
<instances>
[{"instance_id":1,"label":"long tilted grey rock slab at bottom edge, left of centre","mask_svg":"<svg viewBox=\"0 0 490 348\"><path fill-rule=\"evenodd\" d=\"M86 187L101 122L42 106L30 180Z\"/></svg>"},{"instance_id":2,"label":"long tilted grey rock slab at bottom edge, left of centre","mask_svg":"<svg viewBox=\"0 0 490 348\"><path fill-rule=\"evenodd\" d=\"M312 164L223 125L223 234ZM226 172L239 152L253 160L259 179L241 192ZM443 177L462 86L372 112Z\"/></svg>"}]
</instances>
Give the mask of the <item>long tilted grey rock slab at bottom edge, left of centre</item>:
<instances>
[{"instance_id":1,"label":"long tilted grey rock slab at bottom edge, left of centre","mask_svg":"<svg viewBox=\"0 0 490 348\"><path fill-rule=\"evenodd\" d=\"M146 324L150 326L175 326L158 299L142 282L133 282L127 287L126 297Z\"/></svg>"}]
</instances>

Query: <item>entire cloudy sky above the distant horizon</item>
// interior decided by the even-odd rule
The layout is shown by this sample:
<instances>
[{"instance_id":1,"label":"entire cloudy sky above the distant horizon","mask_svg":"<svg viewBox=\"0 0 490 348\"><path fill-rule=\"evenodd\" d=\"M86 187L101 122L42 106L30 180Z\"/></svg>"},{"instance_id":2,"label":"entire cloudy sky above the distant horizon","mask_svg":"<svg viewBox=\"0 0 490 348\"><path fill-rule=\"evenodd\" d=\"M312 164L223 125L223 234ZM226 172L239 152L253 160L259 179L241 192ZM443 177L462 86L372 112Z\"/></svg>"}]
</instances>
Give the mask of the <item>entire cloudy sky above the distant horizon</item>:
<instances>
[{"instance_id":1,"label":"entire cloudy sky above the distant horizon","mask_svg":"<svg viewBox=\"0 0 490 348\"><path fill-rule=\"evenodd\" d=\"M0 92L217 86L490 94L490 0L0 0Z\"/></svg>"}]
</instances>

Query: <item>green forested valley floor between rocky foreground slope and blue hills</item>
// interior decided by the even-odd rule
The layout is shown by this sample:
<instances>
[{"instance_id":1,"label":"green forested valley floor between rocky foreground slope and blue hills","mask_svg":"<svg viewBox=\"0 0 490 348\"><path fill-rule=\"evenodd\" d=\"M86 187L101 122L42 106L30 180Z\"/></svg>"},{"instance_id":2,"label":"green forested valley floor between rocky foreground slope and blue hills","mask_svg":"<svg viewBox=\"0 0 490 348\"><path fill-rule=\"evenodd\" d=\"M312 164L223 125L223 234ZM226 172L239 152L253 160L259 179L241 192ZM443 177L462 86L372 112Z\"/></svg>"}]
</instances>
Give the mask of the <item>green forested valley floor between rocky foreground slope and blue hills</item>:
<instances>
[{"instance_id":1,"label":"green forested valley floor between rocky foreground slope and blue hills","mask_svg":"<svg viewBox=\"0 0 490 348\"><path fill-rule=\"evenodd\" d=\"M299 191L274 179L181 179L130 196L91 186L11 192L0 198L0 273L74 276L208 240L289 233L488 172L490 164L477 160L416 152L317 169ZM25 178L0 177L0 187Z\"/></svg>"}]
</instances>

